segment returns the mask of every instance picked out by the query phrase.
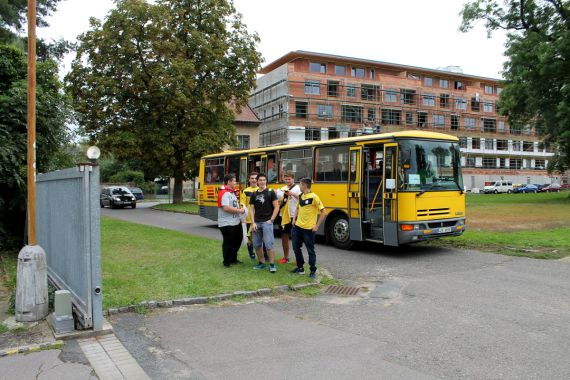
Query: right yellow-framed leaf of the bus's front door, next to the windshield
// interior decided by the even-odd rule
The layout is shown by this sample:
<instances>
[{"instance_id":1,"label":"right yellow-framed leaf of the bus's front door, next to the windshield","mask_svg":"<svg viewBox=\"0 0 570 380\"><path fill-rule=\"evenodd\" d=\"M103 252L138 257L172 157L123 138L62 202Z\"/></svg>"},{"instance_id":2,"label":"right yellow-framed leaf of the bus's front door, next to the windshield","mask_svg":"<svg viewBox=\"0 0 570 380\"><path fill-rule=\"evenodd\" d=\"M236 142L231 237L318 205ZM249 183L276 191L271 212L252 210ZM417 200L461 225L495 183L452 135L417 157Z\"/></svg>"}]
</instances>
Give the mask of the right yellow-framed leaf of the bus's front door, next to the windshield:
<instances>
[{"instance_id":1,"label":"right yellow-framed leaf of the bus's front door, next to the windshield","mask_svg":"<svg viewBox=\"0 0 570 380\"><path fill-rule=\"evenodd\" d=\"M398 246L398 144L384 145L384 244Z\"/></svg>"}]
</instances>

